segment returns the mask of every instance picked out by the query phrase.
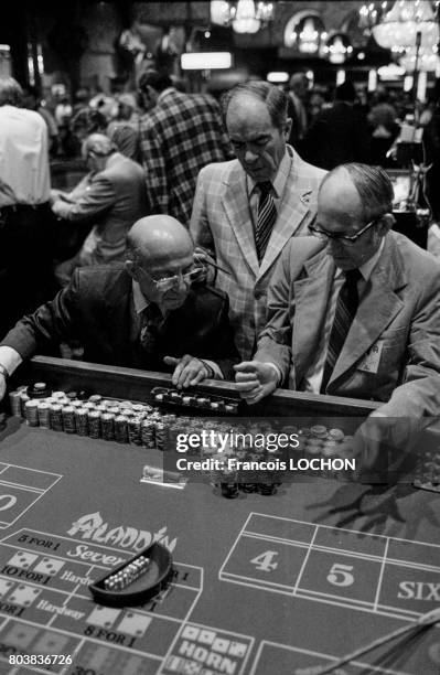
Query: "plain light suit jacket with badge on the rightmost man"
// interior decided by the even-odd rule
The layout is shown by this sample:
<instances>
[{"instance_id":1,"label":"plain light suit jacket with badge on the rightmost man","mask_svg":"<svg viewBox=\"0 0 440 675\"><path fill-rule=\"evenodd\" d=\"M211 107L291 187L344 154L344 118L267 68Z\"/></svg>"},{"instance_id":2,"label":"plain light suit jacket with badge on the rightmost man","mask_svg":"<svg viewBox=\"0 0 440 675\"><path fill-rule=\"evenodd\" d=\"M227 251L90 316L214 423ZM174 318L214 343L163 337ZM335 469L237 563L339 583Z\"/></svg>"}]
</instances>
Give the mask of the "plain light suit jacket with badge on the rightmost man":
<instances>
[{"instance_id":1,"label":"plain light suit jacket with badge on the rightmost man","mask_svg":"<svg viewBox=\"0 0 440 675\"><path fill-rule=\"evenodd\" d=\"M315 358L334 270L325 244L301 237L275 271L255 358L291 389ZM390 417L440 415L440 264L404 235L385 237L326 393L388 401Z\"/></svg>"}]
</instances>

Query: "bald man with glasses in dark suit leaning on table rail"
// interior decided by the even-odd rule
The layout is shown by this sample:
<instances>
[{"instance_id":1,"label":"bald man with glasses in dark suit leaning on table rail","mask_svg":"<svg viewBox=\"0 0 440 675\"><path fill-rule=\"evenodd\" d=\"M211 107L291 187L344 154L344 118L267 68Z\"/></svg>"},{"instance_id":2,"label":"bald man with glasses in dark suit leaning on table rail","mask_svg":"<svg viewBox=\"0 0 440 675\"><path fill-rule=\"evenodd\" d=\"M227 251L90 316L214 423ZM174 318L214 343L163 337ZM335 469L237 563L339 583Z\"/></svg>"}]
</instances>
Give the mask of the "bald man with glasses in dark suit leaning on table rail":
<instances>
[{"instance_id":1,"label":"bald man with glasses in dark suit leaning on table rail","mask_svg":"<svg viewBox=\"0 0 440 675\"><path fill-rule=\"evenodd\" d=\"M226 293L204 283L185 227L168 215L138 221L125 264L76 269L54 300L24 317L0 344L0 399L25 358L76 338L84 360L168 371L173 384L232 379L238 355Z\"/></svg>"}]
</instances>

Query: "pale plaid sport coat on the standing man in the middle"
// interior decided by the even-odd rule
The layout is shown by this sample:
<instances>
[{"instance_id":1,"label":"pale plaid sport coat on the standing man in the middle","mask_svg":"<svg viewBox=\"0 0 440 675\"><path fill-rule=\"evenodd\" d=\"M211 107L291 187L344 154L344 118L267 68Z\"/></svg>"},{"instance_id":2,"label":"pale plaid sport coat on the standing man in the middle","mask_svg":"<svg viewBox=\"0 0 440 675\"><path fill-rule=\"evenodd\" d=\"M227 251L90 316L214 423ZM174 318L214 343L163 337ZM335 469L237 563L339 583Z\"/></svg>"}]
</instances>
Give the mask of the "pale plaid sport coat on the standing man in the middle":
<instances>
[{"instance_id":1,"label":"pale plaid sport coat on the standing man in the middle","mask_svg":"<svg viewBox=\"0 0 440 675\"><path fill-rule=\"evenodd\" d=\"M216 287L229 296L229 320L243 360L251 357L266 324L270 278L291 237L307 234L316 215L318 188L325 171L304 162L293 148L285 194L265 257L258 265L246 173L238 160L210 164L198 175L191 218L195 243L229 274L217 272Z\"/></svg>"}]
</instances>

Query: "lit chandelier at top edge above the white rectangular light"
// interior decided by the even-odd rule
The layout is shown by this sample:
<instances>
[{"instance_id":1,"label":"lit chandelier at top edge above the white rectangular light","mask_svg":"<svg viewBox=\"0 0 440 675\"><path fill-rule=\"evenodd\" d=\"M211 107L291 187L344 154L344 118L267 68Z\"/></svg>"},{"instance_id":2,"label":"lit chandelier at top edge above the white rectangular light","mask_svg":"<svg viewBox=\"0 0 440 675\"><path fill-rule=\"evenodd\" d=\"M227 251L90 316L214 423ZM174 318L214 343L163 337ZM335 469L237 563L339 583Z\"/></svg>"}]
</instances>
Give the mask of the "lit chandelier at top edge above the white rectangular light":
<instances>
[{"instance_id":1,"label":"lit chandelier at top edge above the white rectangular light","mask_svg":"<svg viewBox=\"0 0 440 675\"><path fill-rule=\"evenodd\" d=\"M212 23L232 25L236 33L257 33L272 20L272 2L254 2L254 0L211 2Z\"/></svg>"}]
</instances>

